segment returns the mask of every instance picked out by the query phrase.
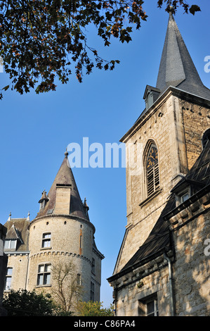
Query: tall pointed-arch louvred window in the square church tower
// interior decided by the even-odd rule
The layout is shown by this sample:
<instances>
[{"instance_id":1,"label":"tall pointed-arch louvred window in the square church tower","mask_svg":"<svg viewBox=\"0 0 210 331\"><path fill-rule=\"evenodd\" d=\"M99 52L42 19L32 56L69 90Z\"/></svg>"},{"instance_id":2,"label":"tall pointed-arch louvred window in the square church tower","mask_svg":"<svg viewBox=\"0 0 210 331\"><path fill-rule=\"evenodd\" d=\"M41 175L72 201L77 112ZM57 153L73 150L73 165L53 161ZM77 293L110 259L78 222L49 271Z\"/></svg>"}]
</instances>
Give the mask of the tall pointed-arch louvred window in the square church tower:
<instances>
[{"instance_id":1,"label":"tall pointed-arch louvred window in the square church tower","mask_svg":"<svg viewBox=\"0 0 210 331\"><path fill-rule=\"evenodd\" d=\"M146 161L146 172L147 172L147 196L152 195L159 189L159 165L158 165L158 154L157 146L151 144L149 152L147 154Z\"/></svg>"}]
</instances>

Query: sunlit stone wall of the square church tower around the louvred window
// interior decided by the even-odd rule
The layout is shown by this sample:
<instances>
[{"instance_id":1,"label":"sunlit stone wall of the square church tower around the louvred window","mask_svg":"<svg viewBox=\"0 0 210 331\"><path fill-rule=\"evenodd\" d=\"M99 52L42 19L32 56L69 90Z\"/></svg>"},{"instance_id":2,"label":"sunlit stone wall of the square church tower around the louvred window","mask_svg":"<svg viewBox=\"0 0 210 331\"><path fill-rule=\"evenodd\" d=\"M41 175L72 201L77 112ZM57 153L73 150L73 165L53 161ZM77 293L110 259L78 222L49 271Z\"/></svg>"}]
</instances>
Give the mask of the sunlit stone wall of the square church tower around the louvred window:
<instances>
[{"instance_id":1,"label":"sunlit stone wall of the square church tower around the louvred window","mask_svg":"<svg viewBox=\"0 0 210 331\"><path fill-rule=\"evenodd\" d=\"M180 109L177 112L181 118ZM127 227L129 233L122 250L118 270L129 261L129 258L150 234L173 185L179 178L181 163L186 163L178 153L178 144L180 146L183 141L178 139L178 120L174 120L174 113L174 97L169 96L153 111L150 111L147 118L135 131L133 130L133 135L126 141ZM150 140L155 142L158 149L160 192L147 201L144 153Z\"/></svg>"}]
</instances>

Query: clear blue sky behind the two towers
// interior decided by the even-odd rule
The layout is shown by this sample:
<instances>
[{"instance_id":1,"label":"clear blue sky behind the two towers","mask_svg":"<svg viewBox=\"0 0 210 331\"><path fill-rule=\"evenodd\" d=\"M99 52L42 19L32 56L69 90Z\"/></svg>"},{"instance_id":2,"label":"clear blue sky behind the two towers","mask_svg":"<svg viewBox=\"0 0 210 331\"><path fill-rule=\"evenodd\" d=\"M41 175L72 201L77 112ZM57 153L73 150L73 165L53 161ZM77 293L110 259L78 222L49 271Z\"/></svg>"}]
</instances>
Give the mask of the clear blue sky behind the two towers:
<instances>
[{"instance_id":1,"label":"clear blue sky behind the two towers","mask_svg":"<svg viewBox=\"0 0 210 331\"><path fill-rule=\"evenodd\" d=\"M191 2L191 1L190 1ZM209 0L195 1L202 12L195 16L179 9L176 23L190 51L202 82L210 88L204 58L210 56ZM156 85L169 15L157 8L157 0L145 0L149 16L135 31L132 42L114 40L103 47L90 28L89 44L108 59L118 59L114 71L93 70L79 84L72 75L56 92L20 96L7 91L0 101L1 196L0 223L12 218L37 216L41 192L51 187L68 144L119 143L144 109L146 85ZM0 86L9 84L0 73ZM100 301L112 303L112 275L126 226L125 168L73 168L81 199L86 197L91 222L96 227L96 244L105 255L102 263Z\"/></svg>"}]
</instances>

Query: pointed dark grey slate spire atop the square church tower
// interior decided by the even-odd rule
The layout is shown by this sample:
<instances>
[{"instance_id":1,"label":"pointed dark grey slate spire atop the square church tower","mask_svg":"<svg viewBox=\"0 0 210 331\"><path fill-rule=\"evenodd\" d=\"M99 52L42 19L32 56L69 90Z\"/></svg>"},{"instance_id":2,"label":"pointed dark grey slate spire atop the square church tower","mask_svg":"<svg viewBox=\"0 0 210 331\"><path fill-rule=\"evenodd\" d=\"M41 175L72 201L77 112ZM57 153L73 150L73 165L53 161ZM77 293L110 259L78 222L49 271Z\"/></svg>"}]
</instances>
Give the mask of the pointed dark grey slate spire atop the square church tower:
<instances>
[{"instance_id":1,"label":"pointed dark grey slate spire atop the square church tower","mask_svg":"<svg viewBox=\"0 0 210 331\"><path fill-rule=\"evenodd\" d=\"M169 13L156 87L163 93L169 86L210 100L210 89L203 85L172 13Z\"/></svg>"}]
</instances>

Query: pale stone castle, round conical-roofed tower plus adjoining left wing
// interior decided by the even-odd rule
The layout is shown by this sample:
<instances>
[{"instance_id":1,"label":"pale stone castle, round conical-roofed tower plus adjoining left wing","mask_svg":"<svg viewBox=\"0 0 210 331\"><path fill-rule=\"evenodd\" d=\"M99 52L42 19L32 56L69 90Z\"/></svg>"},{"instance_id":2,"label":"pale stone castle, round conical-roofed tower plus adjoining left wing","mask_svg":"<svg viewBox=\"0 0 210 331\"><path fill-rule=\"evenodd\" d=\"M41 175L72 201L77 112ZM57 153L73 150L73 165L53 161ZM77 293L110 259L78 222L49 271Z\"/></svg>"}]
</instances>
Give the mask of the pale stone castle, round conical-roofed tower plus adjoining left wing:
<instances>
[{"instance_id":1,"label":"pale stone castle, round conical-roofed tower plus adjoining left wing","mask_svg":"<svg viewBox=\"0 0 210 331\"><path fill-rule=\"evenodd\" d=\"M51 292L58 286L53 267L74 265L83 301L100 301L101 260L95 227L82 203L72 169L65 158L48 194L39 200L34 220L8 218L4 251L8 255L5 290ZM78 298L77 298L78 299Z\"/></svg>"}]
</instances>

